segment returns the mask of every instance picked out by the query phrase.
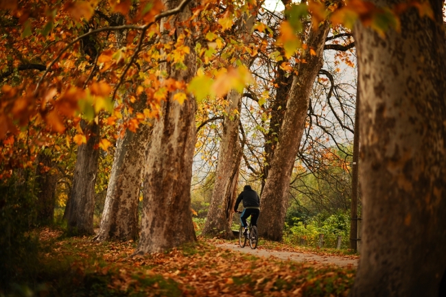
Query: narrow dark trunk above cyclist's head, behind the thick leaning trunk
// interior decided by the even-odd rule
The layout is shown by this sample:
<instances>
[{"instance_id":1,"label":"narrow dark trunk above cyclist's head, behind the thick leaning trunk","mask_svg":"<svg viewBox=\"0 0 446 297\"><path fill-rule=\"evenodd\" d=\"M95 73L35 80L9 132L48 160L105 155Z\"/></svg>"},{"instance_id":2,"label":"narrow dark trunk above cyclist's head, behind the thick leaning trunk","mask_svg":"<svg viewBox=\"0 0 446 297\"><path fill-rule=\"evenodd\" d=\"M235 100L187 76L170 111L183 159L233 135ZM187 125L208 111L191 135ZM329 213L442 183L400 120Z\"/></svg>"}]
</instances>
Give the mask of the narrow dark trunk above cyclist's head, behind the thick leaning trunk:
<instances>
[{"instance_id":1,"label":"narrow dark trunk above cyclist's head, behind the thick leaning trunk","mask_svg":"<svg viewBox=\"0 0 446 297\"><path fill-rule=\"evenodd\" d=\"M293 76L287 76L287 71L281 69L280 65L277 65L277 77L275 84L276 97L271 104L271 119L270 129L265 137L265 162L263 163L263 176L261 177L261 193L265 187L266 178L270 171L270 164L274 156L274 150L277 147L277 141L279 139L280 128L282 126L283 117L285 117L285 110L287 105L287 98L290 94L292 86Z\"/></svg>"}]
</instances>

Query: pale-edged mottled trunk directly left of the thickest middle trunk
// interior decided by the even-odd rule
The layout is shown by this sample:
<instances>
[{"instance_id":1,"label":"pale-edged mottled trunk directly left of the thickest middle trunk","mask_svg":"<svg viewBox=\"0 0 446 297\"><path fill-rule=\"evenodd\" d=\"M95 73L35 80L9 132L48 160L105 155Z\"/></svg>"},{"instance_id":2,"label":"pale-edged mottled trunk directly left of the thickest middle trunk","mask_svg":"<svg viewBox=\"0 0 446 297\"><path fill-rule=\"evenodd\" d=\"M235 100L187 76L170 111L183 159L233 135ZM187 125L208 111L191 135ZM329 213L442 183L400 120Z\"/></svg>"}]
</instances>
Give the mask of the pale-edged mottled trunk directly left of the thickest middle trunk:
<instances>
[{"instance_id":1,"label":"pale-edged mottled trunk directly left of the thickest middle trunk","mask_svg":"<svg viewBox=\"0 0 446 297\"><path fill-rule=\"evenodd\" d=\"M96 241L138 238L139 190L151 134L152 126L142 125L136 133L127 129L124 138L118 139Z\"/></svg>"}]
</instances>

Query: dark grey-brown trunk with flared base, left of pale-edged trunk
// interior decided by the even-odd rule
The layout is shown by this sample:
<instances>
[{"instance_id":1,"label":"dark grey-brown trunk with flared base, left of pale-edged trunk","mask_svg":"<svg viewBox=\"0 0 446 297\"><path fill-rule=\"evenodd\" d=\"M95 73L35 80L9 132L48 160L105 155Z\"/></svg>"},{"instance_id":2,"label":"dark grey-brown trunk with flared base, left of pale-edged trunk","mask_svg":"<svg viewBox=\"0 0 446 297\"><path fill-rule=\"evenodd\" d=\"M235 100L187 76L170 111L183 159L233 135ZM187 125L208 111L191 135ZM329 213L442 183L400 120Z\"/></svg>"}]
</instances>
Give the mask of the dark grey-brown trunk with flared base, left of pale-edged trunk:
<instances>
[{"instance_id":1,"label":"dark grey-brown trunk with flared base, left of pale-edged trunk","mask_svg":"<svg viewBox=\"0 0 446 297\"><path fill-rule=\"evenodd\" d=\"M74 169L71 197L65 209L68 231L75 235L93 234L93 211L95 206L95 182L97 162L99 160L99 126L92 123L87 126L81 122L87 141L78 148L78 157Z\"/></svg>"}]
</instances>

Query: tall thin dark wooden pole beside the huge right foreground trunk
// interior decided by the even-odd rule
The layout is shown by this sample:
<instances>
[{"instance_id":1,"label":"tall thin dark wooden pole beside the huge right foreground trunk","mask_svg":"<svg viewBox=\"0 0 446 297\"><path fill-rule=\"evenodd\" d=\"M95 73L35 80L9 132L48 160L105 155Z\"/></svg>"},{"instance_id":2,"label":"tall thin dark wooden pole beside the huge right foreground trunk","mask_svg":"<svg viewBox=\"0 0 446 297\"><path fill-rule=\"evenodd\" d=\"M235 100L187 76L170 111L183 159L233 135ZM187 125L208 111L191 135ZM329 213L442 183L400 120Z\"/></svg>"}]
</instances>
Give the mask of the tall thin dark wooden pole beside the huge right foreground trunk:
<instances>
[{"instance_id":1,"label":"tall thin dark wooden pole beside the huge right foreground trunk","mask_svg":"<svg viewBox=\"0 0 446 297\"><path fill-rule=\"evenodd\" d=\"M359 70L358 70L359 71ZM360 83L356 87L355 134L353 135L353 163L351 177L350 248L357 251L357 194L359 185L360 156Z\"/></svg>"}]
</instances>

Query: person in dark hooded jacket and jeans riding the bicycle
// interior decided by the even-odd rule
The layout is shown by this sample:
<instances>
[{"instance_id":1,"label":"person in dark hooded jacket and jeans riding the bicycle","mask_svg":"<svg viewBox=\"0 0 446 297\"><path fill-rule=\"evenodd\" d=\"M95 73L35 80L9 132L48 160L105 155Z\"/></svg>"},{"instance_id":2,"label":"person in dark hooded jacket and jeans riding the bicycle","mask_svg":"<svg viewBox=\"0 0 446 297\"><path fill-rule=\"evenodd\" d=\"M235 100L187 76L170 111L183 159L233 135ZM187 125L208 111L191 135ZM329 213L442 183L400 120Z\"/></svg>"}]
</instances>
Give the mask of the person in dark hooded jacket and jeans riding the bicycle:
<instances>
[{"instance_id":1,"label":"person in dark hooded jacket and jeans riding the bicycle","mask_svg":"<svg viewBox=\"0 0 446 297\"><path fill-rule=\"evenodd\" d=\"M251 189L250 185L246 185L243 188L242 193L237 197L237 201L235 202L234 212L237 212L239 208L240 201L243 200L244 210L242 211L242 215L240 216L240 220L242 221L242 226L244 226L243 234L248 234L248 224L246 223L246 219L251 216L251 224L253 226L257 226L257 219L260 214L260 198L257 195L257 192Z\"/></svg>"}]
</instances>

